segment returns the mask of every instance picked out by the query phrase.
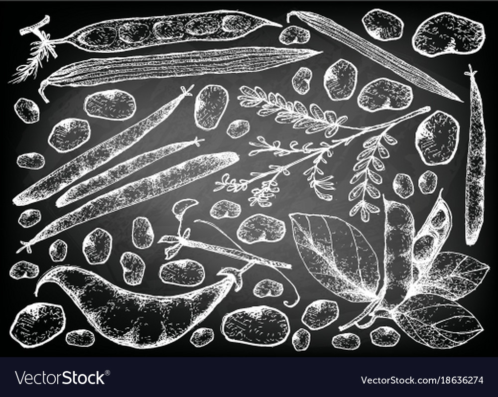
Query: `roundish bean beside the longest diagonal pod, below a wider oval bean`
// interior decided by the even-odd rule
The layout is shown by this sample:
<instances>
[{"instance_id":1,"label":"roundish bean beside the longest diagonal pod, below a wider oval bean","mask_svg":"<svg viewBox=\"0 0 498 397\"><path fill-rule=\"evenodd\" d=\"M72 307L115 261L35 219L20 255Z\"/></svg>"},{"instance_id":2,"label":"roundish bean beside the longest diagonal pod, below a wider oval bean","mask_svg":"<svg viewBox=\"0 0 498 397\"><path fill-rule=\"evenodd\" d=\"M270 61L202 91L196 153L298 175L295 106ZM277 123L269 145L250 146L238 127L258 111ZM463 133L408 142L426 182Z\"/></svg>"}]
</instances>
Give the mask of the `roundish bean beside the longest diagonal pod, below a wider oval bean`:
<instances>
[{"instance_id":1,"label":"roundish bean beside the longest diagonal pod, below a wider oval bean","mask_svg":"<svg viewBox=\"0 0 498 397\"><path fill-rule=\"evenodd\" d=\"M91 135L87 120L69 118L61 120L48 135L48 144L58 153L67 153L85 144Z\"/></svg>"}]
</instances>

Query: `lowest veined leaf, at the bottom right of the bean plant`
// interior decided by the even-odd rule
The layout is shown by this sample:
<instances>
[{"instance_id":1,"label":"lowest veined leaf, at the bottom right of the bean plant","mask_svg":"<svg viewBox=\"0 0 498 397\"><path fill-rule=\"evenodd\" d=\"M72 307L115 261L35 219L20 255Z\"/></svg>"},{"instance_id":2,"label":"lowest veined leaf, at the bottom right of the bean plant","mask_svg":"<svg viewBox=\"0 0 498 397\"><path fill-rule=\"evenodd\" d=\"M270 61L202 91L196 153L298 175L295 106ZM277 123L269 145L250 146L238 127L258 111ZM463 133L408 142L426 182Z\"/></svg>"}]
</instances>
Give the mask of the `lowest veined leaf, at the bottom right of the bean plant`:
<instances>
[{"instance_id":1,"label":"lowest veined leaf, at the bottom right of the bean plant","mask_svg":"<svg viewBox=\"0 0 498 397\"><path fill-rule=\"evenodd\" d=\"M470 311L439 295L411 296L393 310L392 317L410 338L433 349L463 345L483 331Z\"/></svg>"}]
</instances>

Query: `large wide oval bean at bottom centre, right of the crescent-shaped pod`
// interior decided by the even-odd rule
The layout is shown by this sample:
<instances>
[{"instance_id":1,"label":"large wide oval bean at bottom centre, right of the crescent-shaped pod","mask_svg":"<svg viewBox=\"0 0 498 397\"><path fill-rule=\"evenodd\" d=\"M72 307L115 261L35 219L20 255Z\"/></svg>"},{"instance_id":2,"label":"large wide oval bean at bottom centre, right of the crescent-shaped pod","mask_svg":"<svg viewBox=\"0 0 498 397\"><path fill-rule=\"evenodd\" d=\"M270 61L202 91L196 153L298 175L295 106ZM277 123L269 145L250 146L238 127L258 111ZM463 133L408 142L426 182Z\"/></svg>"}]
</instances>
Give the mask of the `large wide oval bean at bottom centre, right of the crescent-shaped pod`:
<instances>
[{"instance_id":1,"label":"large wide oval bean at bottom centre, right of the crescent-shaped pod","mask_svg":"<svg viewBox=\"0 0 498 397\"><path fill-rule=\"evenodd\" d=\"M229 342L258 347L284 343L290 334L287 315L270 306L251 306L225 314L221 332Z\"/></svg>"}]
</instances>

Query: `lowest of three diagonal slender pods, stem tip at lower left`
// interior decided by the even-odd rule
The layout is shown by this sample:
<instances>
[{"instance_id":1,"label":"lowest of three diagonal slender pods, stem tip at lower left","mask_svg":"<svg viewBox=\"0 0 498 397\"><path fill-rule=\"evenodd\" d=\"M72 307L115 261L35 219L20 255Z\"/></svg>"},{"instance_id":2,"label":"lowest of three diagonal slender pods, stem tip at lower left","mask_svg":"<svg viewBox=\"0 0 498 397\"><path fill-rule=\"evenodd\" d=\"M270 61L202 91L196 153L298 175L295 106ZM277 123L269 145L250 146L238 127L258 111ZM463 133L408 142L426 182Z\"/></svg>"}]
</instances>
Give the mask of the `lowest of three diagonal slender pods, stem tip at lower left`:
<instances>
[{"instance_id":1,"label":"lowest of three diagonal slender pods, stem tip at lower left","mask_svg":"<svg viewBox=\"0 0 498 397\"><path fill-rule=\"evenodd\" d=\"M158 197L204 178L239 161L235 152L203 154L180 164L169 167L153 175L129 182L121 187L104 193L78 207L77 209L51 222L28 242L21 242L28 253L31 246L65 230L81 225L91 219L111 214L123 208Z\"/></svg>"}]
</instances>

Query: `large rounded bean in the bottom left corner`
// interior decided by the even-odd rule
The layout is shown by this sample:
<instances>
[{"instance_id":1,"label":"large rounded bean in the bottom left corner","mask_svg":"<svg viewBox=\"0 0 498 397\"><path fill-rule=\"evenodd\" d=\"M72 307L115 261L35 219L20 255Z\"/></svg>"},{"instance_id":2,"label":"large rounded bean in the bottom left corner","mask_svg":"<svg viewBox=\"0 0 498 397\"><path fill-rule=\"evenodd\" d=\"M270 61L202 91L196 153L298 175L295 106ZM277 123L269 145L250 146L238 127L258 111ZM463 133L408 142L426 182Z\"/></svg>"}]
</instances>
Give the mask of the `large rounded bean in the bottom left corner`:
<instances>
[{"instance_id":1,"label":"large rounded bean in the bottom left corner","mask_svg":"<svg viewBox=\"0 0 498 397\"><path fill-rule=\"evenodd\" d=\"M66 314L62 306L46 302L27 305L19 311L10 336L23 348L41 346L61 334L66 327Z\"/></svg>"}]
</instances>

